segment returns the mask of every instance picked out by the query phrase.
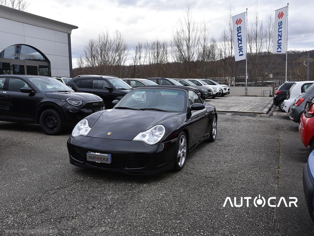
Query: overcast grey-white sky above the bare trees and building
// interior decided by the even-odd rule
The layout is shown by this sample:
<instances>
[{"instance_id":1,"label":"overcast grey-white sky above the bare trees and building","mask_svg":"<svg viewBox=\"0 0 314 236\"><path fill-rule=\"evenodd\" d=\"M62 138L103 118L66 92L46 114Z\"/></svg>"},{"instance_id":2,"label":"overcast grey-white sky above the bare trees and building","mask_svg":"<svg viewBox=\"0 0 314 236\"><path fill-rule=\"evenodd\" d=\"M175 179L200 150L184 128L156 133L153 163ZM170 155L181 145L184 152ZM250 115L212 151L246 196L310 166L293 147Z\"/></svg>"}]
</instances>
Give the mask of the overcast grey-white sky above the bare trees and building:
<instances>
[{"instance_id":1,"label":"overcast grey-white sky above the bare trees and building","mask_svg":"<svg viewBox=\"0 0 314 236\"><path fill-rule=\"evenodd\" d=\"M77 25L72 31L73 67L76 57L90 38L101 31L119 30L124 35L131 53L137 42L155 39L171 39L172 31L183 15L184 0L28 0L27 11L53 20ZM273 0L189 0L194 20L208 22L210 34L219 40L226 27L228 8L234 14L248 8L248 23L258 7L262 19L271 10L284 7L287 1ZM309 50L314 48L313 0L292 0L289 3L288 50ZM274 14L274 12L273 12Z\"/></svg>"}]
</instances>

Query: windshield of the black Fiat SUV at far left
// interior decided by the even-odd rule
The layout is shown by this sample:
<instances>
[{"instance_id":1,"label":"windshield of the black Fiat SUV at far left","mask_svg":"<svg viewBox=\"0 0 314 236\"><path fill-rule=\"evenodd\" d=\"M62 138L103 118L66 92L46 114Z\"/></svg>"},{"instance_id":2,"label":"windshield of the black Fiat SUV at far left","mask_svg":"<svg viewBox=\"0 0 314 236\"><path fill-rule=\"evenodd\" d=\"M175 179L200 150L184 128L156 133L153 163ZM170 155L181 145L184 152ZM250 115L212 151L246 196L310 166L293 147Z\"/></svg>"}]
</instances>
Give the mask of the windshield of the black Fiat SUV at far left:
<instances>
[{"instance_id":1,"label":"windshield of the black Fiat SUV at far left","mask_svg":"<svg viewBox=\"0 0 314 236\"><path fill-rule=\"evenodd\" d=\"M41 92L74 92L64 83L51 77L28 77Z\"/></svg>"}]
</instances>

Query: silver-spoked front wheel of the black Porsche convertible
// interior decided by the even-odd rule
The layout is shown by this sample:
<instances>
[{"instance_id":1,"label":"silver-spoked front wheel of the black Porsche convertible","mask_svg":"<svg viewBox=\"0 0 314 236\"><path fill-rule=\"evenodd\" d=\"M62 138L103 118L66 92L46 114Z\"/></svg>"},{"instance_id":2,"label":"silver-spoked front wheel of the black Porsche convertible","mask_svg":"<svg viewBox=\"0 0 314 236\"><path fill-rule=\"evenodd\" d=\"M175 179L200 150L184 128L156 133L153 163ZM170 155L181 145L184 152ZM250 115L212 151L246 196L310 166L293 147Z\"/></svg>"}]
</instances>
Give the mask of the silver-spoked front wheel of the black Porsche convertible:
<instances>
[{"instance_id":1,"label":"silver-spoked front wheel of the black Porsche convertible","mask_svg":"<svg viewBox=\"0 0 314 236\"><path fill-rule=\"evenodd\" d=\"M180 134L178 135L178 140L176 142L173 169L175 171L181 171L184 167L186 159L187 159L187 136L185 132L181 131Z\"/></svg>"}]
</instances>

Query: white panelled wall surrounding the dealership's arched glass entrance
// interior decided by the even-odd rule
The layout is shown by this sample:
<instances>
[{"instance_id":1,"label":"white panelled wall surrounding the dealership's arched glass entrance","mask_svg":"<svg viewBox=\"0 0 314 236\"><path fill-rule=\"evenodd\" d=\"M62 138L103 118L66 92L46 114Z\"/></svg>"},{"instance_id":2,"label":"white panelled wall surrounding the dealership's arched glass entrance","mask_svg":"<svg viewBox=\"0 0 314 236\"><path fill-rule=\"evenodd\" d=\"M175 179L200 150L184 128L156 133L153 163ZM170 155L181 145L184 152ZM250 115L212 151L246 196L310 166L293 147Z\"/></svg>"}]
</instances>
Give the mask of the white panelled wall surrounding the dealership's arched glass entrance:
<instances>
[{"instance_id":1,"label":"white panelled wall surrounding the dealership's arched glass entrance","mask_svg":"<svg viewBox=\"0 0 314 236\"><path fill-rule=\"evenodd\" d=\"M51 76L70 76L67 33L1 17L0 25L0 52L15 44L30 45L49 59Z\"/></svg>"}]
</instances>

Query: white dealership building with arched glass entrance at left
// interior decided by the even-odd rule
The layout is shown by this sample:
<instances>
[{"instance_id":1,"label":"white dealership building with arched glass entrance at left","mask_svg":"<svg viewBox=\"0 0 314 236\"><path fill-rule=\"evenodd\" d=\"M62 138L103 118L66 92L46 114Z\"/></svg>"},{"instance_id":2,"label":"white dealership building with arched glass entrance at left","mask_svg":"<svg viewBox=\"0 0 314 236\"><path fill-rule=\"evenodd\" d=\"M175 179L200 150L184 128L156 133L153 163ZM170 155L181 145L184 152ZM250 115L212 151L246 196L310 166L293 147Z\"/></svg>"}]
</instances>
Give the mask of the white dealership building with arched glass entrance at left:
<instances>
[{"instance_id":1,"label":"white dealership building with arched glass entrance at left","mask_svg":"<svg viewBox=\"0 0 314 236\"><path fill-rule=\"evenodd\" d=\"M0 5L0 75L72 77L78 27Z\"/></svg>"}]
</instances>

